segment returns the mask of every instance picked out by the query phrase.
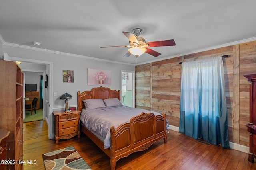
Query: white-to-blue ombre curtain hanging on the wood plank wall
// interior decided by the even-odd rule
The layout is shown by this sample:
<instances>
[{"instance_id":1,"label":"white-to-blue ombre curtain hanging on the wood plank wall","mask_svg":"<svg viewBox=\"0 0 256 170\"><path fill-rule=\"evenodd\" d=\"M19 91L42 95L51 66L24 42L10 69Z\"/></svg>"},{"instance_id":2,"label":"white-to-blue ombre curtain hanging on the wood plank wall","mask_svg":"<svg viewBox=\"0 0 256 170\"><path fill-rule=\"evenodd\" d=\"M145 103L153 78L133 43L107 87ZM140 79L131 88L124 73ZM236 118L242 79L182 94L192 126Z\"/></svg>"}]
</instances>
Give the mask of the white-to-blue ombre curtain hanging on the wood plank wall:
<instances>
[{"instance_id":1,"label":"white-to-blue ombre curtain hanging on the wood plank wall","mask_svg":"<svg viewBox=\"0 0 256 170\"><path fill-rule=\"evenodd\" d=\"M222 57L182 63L179 132L229 148Z\"/></svg>"}]
</instances>

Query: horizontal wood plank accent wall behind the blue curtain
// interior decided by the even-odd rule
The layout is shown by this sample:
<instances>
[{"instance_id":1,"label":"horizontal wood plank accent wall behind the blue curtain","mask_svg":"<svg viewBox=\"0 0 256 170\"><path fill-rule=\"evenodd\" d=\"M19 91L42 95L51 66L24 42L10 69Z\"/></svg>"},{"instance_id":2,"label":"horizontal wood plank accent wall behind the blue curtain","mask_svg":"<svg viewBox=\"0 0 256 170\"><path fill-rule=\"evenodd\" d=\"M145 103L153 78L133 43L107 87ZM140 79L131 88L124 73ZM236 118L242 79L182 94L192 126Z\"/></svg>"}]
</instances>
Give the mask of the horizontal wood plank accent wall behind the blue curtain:
<instances>
[{"instance_id":1,"label":"horizontal wood plank accent wall behind the blue curtain","mask_svg":"<svg viewBox=\"0 0 256 170\"><path fill-rule=\"evenodd\" d=\"M179 127L179 62L222 55L230 55L223 58L229 141L249 146L249 83L243 75L256 73L256 41L136 66L135 107L166 113L170 125Z\"/></svg>"}]
</instances>

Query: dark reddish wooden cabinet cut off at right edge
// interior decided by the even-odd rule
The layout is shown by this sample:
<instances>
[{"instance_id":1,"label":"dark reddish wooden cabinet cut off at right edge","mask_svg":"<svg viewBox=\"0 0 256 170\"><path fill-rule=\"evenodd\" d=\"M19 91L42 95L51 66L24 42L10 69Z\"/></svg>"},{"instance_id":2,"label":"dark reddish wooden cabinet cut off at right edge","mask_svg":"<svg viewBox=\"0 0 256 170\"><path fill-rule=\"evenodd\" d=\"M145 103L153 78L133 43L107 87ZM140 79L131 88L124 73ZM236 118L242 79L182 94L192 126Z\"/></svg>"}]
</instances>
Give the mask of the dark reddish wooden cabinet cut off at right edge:
<instances>
[{"instance_id":1,"label":"dark reddish wooden cabinet cut off at right edge","mask_svg":"<svg viewBox=\"0 0 256 170\"><path fill-rule=\"evenodd\" d=\"M249 132L249 162L256 158L256 74L244 75L250 83L250 122L246 125Z\"/></svg>"}]
</instances>

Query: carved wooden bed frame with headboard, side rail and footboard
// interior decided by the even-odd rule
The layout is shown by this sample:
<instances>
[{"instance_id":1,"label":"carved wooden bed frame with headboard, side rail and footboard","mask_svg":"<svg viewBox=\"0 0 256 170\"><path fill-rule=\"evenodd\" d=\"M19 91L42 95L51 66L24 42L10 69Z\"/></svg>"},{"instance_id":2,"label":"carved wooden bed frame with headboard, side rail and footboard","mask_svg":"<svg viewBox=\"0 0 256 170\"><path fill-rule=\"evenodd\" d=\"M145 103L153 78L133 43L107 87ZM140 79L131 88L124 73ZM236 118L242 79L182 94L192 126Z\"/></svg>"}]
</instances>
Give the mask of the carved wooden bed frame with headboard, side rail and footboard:
<instances>
[{"instance_id":1,"label":"carved wooden bed frame with headboard, side rail and footboard","mask_svg":"<svg viewBox=\"0 0 256 170\"><path fill-rule=\"evenodd\" d=\"M120 90L97 87L90 91L77 92L78 110L82 111L84 99L106 99L118 98L120 101ZM130 123L124 123L117 128L111 127L110 148L104 149L104 143L98 139L86 127L80 128L103 152L110 157L111 170L115 169L116 161L127 157L133 152L147 149L154 142L164 139L166 143L166 115L155 116L153 113L142 113L130 119ZM144 130L143 130L144 129Z\"/></svg>"}]
</instances>

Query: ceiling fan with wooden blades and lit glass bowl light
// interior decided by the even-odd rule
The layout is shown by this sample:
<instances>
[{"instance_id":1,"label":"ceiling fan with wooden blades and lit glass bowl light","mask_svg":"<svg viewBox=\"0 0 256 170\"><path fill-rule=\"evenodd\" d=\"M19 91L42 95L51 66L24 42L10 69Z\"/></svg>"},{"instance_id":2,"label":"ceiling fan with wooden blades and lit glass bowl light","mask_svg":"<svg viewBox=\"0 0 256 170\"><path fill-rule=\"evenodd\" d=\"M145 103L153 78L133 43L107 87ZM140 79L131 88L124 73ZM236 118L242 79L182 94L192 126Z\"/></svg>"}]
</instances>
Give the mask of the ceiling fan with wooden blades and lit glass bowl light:
<instances>
[{"instance_id":1,"label":"ceiling fan with wooden blades and lit glass bowl light","mask_svg":"<svg viewBox=\"0 0 256 170\"><path fill-rule=\"evenodd\" d=\"M175 45L174 39L164 40L164 41L152 41L146 42L146 40L139 35L142 33L142 29L135 28L132 30L133 33L122 32L128 39L130 45L120 45L120 46L110 46L110 47L129 47L128 52L123 57L129 57L133 54L135 57L142 55L143 53L148 53L154 57L161 55L157 51L154 51L148 47L160 47L160 46L172 46ZM107 48L107 47L100 47Z\"/></svg>"}]
</instances>

